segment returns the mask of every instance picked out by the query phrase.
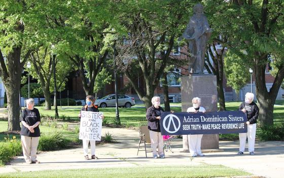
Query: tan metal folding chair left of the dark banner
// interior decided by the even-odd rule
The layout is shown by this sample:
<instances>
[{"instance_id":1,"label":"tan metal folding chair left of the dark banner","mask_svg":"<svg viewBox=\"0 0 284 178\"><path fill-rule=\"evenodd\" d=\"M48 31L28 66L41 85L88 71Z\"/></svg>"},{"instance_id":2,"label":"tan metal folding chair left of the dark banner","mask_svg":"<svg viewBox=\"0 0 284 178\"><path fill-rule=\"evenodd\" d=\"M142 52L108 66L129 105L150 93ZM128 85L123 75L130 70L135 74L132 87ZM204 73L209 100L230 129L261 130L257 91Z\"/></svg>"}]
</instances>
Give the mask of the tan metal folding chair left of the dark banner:
<instances>
[{"instance_id":1,"label":"tan metal folding chair left of the dark banner","mask_svg":"<svg viewBox=\"0 0 284 178\"><path fill-rule=\"evenodd\" d=\"M144 147L145 147L145 154L146 154L146 158L147 158L146 145L151 144L150 132L149 132L149 129L148 129L148 123L139 123L138 127L139 127L140 140L139 140L139 144L138 144L137 155L138 155L139 151L143 151L143 150L139 150L140 144L143 142ZM150 151L148 151L148 152L150 152ZM152 152L152 149L151 149L151 152Z\"/></svg>"}]
</instances>

